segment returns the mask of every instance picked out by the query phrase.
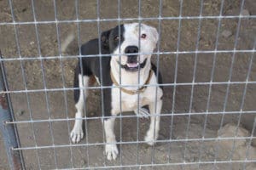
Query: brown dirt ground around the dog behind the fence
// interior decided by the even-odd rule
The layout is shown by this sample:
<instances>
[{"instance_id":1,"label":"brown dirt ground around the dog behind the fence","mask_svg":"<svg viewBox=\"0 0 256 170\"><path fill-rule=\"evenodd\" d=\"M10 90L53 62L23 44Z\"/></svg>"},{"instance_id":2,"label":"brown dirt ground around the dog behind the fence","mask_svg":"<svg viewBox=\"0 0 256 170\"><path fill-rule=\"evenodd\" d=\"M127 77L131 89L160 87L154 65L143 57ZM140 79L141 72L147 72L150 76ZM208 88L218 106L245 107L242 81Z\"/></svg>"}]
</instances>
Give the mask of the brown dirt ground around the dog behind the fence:
<instances>
[{"instance_id":1,"label":"brown dirt ground around the dog behind the fence","mask_svg":"<svg viewBox=\"0 0 256 170\"><path fill-rule=\"evenodd\" d=\"M29 0L13 0L15 21L25 22L33 21L32 4ZM102 0L100 6L101 19L114 19L118 17L118 1ZM137 18L138 1L121 0L120 17ZM203 16L219 15L220 0L206 0L203 3ZM56 0L56 16L58 20L76 20L74 1ZM96 20L96 0L79 1L79 19ZM163 0L162 16L170 17L179 15L179 1ZM240 10L240 1L224 1L223 15L238 15ZM54 21L55 10L53 1L42 0L35 2L35 11L38 21ZM183 16L198 16L200 14L200 1L183 0ZM243 14L256 15L256 3L253 0L246 0ZM158 17L159 1L141 0L142 17ZM0 22L12 22L12 15L9 9L9 1L0 0ZM130 22L130 21L129 21ZM122 23L125 23L125 21ZM143 23L158 27L159 20L143 21ZM118 24L117 21L102 21L100 28L102 31L112 28ZM160 22L160 52L177 51L179 20L161 20ZM223 19L218 36L218 50L233 50L238 19ZM59 35L57 37L55 24L38 25L39 44L37 42L34 25L18 25L18 38L20 48L17 48L15 42L15 27L11 25L0 26L0 48L5 59L12 58L35 58L40 54L42 57L71 56L78 54L78 33L77 25L74 23L60 23ZM197 31L199 20L182 20L180 29L179 51L195 51ZM218 20L201 20L201 37L199 39L198 50L214 50L216 41L216 32ZM97 22L83 22L79 25L80 42L86 42L91 38L97 37ZM239 37L237 39L236 49L253 49L253 42L256 36L256 22L254 19L241 19ZM73 42L67 47L65 53L60 53L58 42L63 43L69 35L74 35ZM40 46L39 46L40 45ZM175 64L177 65L177 83L192 82L195 63L195 54L161 54L160 71L165 83L175 81ZM215 70L212 82L228 82L230 77L230 67L232 53L216 54ZM176 58L177 57L177 58ZM214 54L198 54L195 71L195 82L210 82L212 74L212 63ZM234 55L233 70L231 82L245 82L247 71L250 64L252 53L237 53ZM157 56L153 57L155 61ZM73 88L73 68L77 59L75 58L57 58L57 59L26 59L5 61L6 72L8 75L9 89L13 91L32 90L32 89L53 89L53 88ZM22 69L26 79L26 87L22 77ZM42 70L44 67L44 71ZM44 74L43 74L44 72ZM45 80L45 84L43 81ZM248 81L256 81L256 59L253 59L252 70ZM46 87L44 87L44 85ZM221 126L221 119L224 116L223 125L230 123L237 125L239 111L256 111L256 84L247 84L247 94L243 102L242 94L245 83L231 84L229 88L228 99L224 105L224 99L227 92L227 84L212 85L209 107L207 108L207 99L209 95L209 85L195 85L193 102L190 105L191 89L190 85L180 85L176 87L175 103L172 108L173 86L165 87L164 105L162 114L174 113L173 116L162 116L160 122L160 140L172 139L172 142L160 142L154 147L148 147L146 144L121 144L119 145L120 154L116 161L107 161L103 156L104 142L102 134L102 123L100 119L88 120L84 123L87 127L86 137L79 143L91 144L85 146L59 147L40 150L24 150L23 155L26 162L26 169L53 169L53 168L71 168L71 167L102 167L119 165L137 165L137 164L165 164L172 163L172 166L159 167L127 167L124 169L198 169L197 164L178 165L175 163L198 162L198 161L229 161L230 147L225 147L218 140L198 141L192 140L184 142L182 139L216 138L218 129ZM50 118L67 118L74 116L73 92L72 90L59 90L33 93L15 93L11 94L12 103L17 121L40 120ZM27 102L29 101L29 102ZM189 105L191 107L189 107ZM88 117L101 116L101 93L98 90L90 90L90 97L87 100L86 112ZM181 113L204 113L220 112L219 114L188 114ZM222 111L236 111L235 114L221 114ZM133 115L133 113L123 113L124 115ZM178 115L177 115L178 114ZM240 126L244 127L242 132L245 136L251 135L253 122L256 113L241 114ZM207 120L206 120L207 118ZM118 120L115 126L115 132L118 141L128 142L143 140L148 129L148 120L140 119L137 126L137 117L122 118L122 123ZM172 123L173 122L173 123ZM188 127L189 122L189 127ZM206 131L203 132L206 123ZM71 122L35 122L20 123L18 129L20 133L20 143L22 147L48 146L71 144L68 138L70 129L73 127ZM35 136L33 135L34 129ZM53 129L50 133L50 128ZM243 128L242 128L243 129ZM233 131L234 132L234 131ZM1 133L0 133L1 135ZM234 133L230 136L234 137ZM253 135L255 137L255 134ZM180 141L180 140L182 141ZM3 138L0 136L0 169L9 169L9 164L3 149ZM226 140L228 146L233 144L233 140ZM249 140L241 141L241 147L245 147ZM238 143L238 142L237 142ZM239 143L240 144L240 143ZM237 144L235 144L237 146ZM186 148L186 149L185 149ZM256 156L253 155L254 148L249 149L247 160L254 160L254 163L247 163L246 169L256 167ZM238 151L239 152L239 151ZM245 153L236 152L231 157L232 160L244 160ZM184 156L185 155L185 156ZM56 160L56 165L55 165ZM40 167L38 167L38 162ZM242 169L243 163L222 163L222 164L202 164L201 169Z\"/></svg>"}]
</instances>

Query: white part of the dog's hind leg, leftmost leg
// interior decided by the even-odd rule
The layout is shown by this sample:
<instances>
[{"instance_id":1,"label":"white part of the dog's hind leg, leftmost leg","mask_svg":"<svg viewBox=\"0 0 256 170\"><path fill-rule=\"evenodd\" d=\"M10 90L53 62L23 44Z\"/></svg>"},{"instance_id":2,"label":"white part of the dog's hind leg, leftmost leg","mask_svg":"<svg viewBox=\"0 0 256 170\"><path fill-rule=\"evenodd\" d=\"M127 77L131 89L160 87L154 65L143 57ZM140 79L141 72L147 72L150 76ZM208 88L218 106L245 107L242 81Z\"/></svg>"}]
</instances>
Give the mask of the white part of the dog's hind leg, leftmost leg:
<instances>
[{"instance_id":1,"label":"white part of the dog's hind leg, leftmost leg","mask_svg":"<svg viewBox=\"0 0 256 170\"><path fill-rule=\"evenodd\" d=\"M83 90L83 87L87 87L90 77L84 76L84 86L82 83L82 76L79 74L79 101L76 103L76 120L73 126L73 130L70 133L70 138L73 143L78 143L81 139L84 138L83 132L83 116L84 116L84 97L86 97L86 90ZM84 96L85 94L85 96Z\"/></svg>"}]
</instances>

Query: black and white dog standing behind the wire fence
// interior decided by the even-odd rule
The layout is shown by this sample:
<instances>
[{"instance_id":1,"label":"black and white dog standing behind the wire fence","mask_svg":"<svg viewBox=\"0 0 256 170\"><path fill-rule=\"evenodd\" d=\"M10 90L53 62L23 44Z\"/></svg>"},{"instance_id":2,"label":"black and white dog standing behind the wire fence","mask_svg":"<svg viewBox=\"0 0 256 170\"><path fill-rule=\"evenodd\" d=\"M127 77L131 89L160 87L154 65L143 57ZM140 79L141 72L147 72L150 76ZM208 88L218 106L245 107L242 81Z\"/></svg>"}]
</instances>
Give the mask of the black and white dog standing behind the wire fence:
<instances>
[{"instance_id":1,"label":"black and white dog standing behind the wire fence","mask_svg":"<svg viewBox=\"0 0 256 170\"><path fill-rule=\"evenodd\" d=\"M70 134L73 143L79 142L84 137L81 118L84 115L84 98L87 92L81 88L88 87L90 77L96 77L97 82L101 83L103 87L113 87L102 90L104 116L117 116L120 113L120 105L122 111L135 111L137 115L143 114L145 112L143 108L138 110L137 94L139 94L139 105L148 105L150 112L150 127L145 141L150 145L154 144L160 129L160 116L154 116L154 114L160 114L163 95L163 90L159 86L161 83L160 74L157 80L156 67L150 61L151 54L158 42L158 32L154 27L144 24L124 24L102 32L100 42L101 54L109 55L107 57L102 56L102 68L100 68L100 58L97 56L83 57L76 67L74 88L80 89L74 90L77 113ZM81 54L99 54L99 40L93 39L84 43L81 47ZM100 78L101 69L102 79ZM138 74L140 76L139 82ZM120 75L121 82L119 81ZM125 85L125 88L120 88L119 85ZM114 117L108 117L103 121L107 142L105 152L108 160L116 159L119 154L113 132L114 120Z\"/></svg>"}]
</instances>

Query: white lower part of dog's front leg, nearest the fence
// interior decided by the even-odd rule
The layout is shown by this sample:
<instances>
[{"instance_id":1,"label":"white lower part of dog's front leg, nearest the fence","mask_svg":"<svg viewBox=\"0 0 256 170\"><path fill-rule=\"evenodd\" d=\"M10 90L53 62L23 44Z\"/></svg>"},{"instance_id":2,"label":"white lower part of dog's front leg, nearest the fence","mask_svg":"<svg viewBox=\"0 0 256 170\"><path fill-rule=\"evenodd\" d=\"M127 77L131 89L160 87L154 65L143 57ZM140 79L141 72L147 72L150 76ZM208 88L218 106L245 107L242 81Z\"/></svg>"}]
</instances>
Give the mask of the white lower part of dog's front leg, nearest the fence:
<instances>
[{"instance_id":1,"label":"white lower part of dog's front leg, nearest the fence","mask_svg":"<svg viewBox=\"0 0 256 170\"><path fill-rule=\"evenodd\" d=\"M115 118L108 118L107 120L104 120L104 130L107 142L105 146L105 152L109 161L115 160L119 154L119 150L116 145L115 135L113 133L114 120Z\"/></svg>"}]
</instances>

